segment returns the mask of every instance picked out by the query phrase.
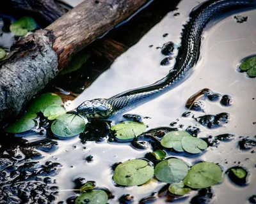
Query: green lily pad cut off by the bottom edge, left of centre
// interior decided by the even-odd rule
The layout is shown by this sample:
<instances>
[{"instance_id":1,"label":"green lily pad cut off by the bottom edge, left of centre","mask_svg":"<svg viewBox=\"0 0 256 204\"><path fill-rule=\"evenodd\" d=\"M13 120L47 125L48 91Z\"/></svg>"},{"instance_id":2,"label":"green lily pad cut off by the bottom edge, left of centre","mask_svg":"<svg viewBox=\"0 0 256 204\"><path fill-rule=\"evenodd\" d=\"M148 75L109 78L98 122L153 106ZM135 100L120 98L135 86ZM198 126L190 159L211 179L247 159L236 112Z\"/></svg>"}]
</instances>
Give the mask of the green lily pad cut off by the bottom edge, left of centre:
<instances>
[{"instance_id":1,"label":"green lily pad cut off by the bottom edge, left of centre","mask_svg":"<svg viewBox=\"0 0 256 204\"><path fill-rule=\"evenodd\" d=\"M86 200L86 201L84 201ZM102 190L92 190L81 194L76 198L76 204L106 204L108 203L108 194Z\"/></svg>"}]
</instances>

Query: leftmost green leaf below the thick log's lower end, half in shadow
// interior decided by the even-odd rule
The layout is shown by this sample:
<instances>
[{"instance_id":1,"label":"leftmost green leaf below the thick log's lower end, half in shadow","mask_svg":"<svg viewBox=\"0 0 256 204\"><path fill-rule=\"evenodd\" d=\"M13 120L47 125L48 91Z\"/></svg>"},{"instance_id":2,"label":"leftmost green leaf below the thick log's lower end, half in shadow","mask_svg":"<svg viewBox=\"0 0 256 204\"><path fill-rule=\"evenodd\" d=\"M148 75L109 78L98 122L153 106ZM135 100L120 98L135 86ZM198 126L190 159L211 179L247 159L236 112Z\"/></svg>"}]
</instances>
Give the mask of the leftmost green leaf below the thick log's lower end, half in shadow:
<instances>
[{"instance_id":1,"label":"leftmost green leaf below the thick log's lower end, half in shadow","mask_svg":"<svg viewBox=\"0 0 256 204\"><path fill-rule=\"evenodd\" d=\"M19 120L4 128L6 133L24 133L35 127L36 113L25 113Z\"/></svg>"}]
</instances>

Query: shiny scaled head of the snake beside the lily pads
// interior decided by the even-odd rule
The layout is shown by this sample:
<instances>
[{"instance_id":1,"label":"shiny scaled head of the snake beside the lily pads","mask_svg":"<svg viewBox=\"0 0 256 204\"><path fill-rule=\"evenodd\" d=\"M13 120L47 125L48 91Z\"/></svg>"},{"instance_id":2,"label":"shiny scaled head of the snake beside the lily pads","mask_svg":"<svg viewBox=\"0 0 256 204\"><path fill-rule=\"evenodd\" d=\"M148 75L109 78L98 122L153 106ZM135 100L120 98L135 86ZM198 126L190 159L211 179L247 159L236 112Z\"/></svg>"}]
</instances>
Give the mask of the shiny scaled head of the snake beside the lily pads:
<instances>
[{"instance_id":1,"label":"shiny scaled head of the snake beside the lily pads","mask_svg":"<svg viewBox=\"0 0 256 204\"><path fill-rule=\"evenodd\" d=\"M101 118L106 119L113 113L112 106L108 103L107 99L93 99L84 101L76 108L78 114L87 118Z\"/></svg>"}]
</instances>

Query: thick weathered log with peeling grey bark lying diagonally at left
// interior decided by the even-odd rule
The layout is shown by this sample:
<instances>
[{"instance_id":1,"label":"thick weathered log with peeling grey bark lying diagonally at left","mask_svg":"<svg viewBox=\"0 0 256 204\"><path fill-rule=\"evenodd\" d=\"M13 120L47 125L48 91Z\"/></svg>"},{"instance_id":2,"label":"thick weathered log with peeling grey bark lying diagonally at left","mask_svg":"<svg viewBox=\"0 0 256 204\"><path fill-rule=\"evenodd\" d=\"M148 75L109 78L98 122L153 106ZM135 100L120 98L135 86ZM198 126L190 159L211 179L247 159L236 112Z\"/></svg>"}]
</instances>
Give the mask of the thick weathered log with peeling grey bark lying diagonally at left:
<instances>
[{"instance_id":1,"label":"thick weathered log with peeling grey bark lying diagonally at left","mask_svg":"<svg viewBox=\"0 0 256 204\"><path fill-rule=\"evenodd\" d=\"M13 45L10 55L0 64L0 122L14 119L29 99L67 65L73 54L146 2L86 0L46 29Z\"/></svg>"}]
</instances>

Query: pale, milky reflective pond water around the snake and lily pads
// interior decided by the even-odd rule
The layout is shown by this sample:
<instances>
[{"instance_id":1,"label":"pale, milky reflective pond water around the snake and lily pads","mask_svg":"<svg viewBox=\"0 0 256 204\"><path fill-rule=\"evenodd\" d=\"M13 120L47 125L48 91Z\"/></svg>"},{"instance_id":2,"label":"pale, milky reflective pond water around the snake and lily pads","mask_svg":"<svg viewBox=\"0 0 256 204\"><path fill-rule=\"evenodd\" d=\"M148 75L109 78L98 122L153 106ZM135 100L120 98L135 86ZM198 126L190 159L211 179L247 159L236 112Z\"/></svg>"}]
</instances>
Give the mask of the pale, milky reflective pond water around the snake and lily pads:
<instances>
[{"instance_id":1,"label":"pale, milky reflective pond water around the snake and lily pads","mask_svg":"<svg viewBox=\"0 0 256 204\"><path fill-rule=\"evenodd\" d=\"M78 1L67 2L72 6L78 3ZM160 66L164 56L161 54L161 49L156 47L162 47L164 43L173 41L177 54L182 25L186 23L190 11L198 3L202 1L181 1L179 10L168 13L136 45L118 57L107 71L72 101L68 108L70 110L76 108L88 99L109 98L128 89L149 85L166 76L174 61L170 66ZM175 16L174 13L178 12L179 15ZM242 15L248 19L239 24L234 19L234 15ZM248 186L245 187L234 186L224 175L221 184L212 186L214 192L212 203L246 203L248 198L255 194L255 153L253 154L251 150L242 151L237 147L238 141L241 140L240 136L253 139L256 135L256 99L254 99L256 98L256 81L255 78L246 77L246 73L237 71L237 66L244 57L256 53L255 27L256 10L229 13L211 22L205 28L200 60L193 68L193 73L177 87L127 112L150 117L143 120L148 129L170 127L171 122L177 122L175 127L184 124L183 129L188 126L199 128L199 138L225 133L235 135L232 141L220 142L218 148L208 147L197 157L173 154L189 165L198 161L209 161L220 164L223 171L238 164L249 171ZM164 33L168 33L168 36L163 37ZM222 106L220 101L204 100L205 113L193 112L196 117L205 114L229 113L228 123L220 128L205 128L192 117L182 117L182 113L188 111L185 108L187 99L204 88L232 97L231 106ZM124 118L122 115L117 115L113 119L113 124L120 120ZM150 147L146 150L136 150L129 143L117 145L108 143L107 140L82 144L78 137L56 141L58 149L51 153L40 151L45 157L39 160L41 164L52 161L63 165L58 175L52 177L56 179L56 186L60 187L56 202L65 201L76 195L72 189L75 187L74 179L79 177L93 180L99 187L108 188L115 195L115 198L108 203L118 203L118 198L123 194L131 194L134 196L134 203L138 203L142 198L159 191L165 185L161 182L150 182L145 186L116 187L113 184L111 166L117 162L144 157L147 152L152 151ZM93 161L88 163L85 158L90 155L93 156ZM188 198L179 202L189 203L196 193L197 191L193 191ZM155 203L165 203L164 199L158 198Z\"/></svg>"}]
</instances>

